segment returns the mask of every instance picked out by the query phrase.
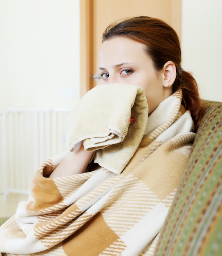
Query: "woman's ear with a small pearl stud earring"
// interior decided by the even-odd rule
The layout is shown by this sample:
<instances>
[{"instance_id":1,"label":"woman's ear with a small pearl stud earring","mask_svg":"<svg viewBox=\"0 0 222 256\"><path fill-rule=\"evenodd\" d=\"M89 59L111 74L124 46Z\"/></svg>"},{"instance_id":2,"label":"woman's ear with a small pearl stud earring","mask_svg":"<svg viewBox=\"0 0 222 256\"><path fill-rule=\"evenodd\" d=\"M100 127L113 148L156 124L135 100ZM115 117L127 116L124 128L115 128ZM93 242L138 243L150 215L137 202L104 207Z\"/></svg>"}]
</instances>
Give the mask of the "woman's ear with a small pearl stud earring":
<instances>
[{"instance_id":1,"label":"woman's ear with a small pearl stud earring","mask_svg":"<svg viewBox=\"0 0 222 256\"><path fill-rule=\"evenodd\" d=\"M163 86L168 88L171 85L173 85L177 76L176 66L173 63L173 61L167 61L164 64L163 71L164 71Z\"/></svg>"}]
</instances>

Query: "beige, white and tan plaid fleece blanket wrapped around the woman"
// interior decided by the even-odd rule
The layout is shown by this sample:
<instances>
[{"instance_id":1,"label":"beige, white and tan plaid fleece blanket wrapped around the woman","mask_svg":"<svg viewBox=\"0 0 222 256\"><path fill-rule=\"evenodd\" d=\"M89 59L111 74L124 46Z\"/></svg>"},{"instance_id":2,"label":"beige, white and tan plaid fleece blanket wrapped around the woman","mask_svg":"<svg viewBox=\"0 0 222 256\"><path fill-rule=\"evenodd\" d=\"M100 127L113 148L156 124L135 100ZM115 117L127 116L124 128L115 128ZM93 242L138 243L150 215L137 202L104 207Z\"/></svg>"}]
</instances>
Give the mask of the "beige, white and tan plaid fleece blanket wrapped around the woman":
<instances>
[{"instance_id":1,"label":"beige, white and tan plaid fleece blanket wrapped around the woman","mask_svg":"<svg viewBox=\"0 0 222 256\"><path fill-rule=\"evenodd\" d=\"M107 90L112 91L109 87ZM139 89L137 94L143 91ZM120 173L103 166L50 179L43 172L52 172L64 154L45 161L36 172L28 201L20 202L15 216L0 227L2 255L153 255L195 137L191 115L181 106L181 100L182 92L175 92L160 103L148 121L146 116L147 124L142 128L145 135L139 137L134 149L128 140L130 152L135 152L126 155ZM128 119L133 106L134 103L127 110ZM137 113L133 115L137 120ZM73 143L69 136L67 141L72 148L78 138ZM118 159L113 148L124 146L126 138L127 133L117 144L111 142L98 152L112 147L110 155ZM104 159L105 164L110 164L108 151Z\"/></svg>"}]
</instances>

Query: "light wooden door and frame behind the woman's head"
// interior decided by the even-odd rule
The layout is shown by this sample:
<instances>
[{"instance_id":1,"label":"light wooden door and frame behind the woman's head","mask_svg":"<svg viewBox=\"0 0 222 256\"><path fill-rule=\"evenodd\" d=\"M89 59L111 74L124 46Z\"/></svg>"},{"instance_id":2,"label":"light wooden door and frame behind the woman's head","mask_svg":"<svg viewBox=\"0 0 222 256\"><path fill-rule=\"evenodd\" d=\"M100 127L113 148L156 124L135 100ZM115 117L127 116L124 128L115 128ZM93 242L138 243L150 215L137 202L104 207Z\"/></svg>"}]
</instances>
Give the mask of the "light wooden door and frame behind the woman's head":
<instances>
[{"instance_id":1,"label":"light wooden door and frame behind the woman's head","mask_svg":"<svg viewBox=\"0 0 222 256\"><path fill-rule=\"evenodd\" d=\"M160 18L180 36L181 0L80 0L81 13L81 96L98 82L101 37L106 27L132 16ZM102 82L102 79L101 79Z\"/></svg>"}]
</instances>

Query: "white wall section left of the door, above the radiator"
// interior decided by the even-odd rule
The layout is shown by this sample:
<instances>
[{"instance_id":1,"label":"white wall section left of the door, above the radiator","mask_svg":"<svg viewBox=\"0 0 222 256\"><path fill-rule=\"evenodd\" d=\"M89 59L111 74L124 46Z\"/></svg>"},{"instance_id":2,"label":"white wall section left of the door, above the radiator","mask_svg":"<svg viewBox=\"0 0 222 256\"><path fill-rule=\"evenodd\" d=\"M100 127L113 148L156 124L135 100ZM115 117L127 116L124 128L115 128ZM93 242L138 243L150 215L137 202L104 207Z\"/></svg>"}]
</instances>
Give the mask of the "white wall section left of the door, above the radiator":
<instances>
[{"instance_id":1,"label":"white wall section left of the door, above the radiator","mask_svg":"<svg viewBox=\"0 0 222 256\"><path fill-rule=\"evenodd\" d=\"M0 0L0 112L79 98L79 1Z\"/></svg>"}]
</instances>

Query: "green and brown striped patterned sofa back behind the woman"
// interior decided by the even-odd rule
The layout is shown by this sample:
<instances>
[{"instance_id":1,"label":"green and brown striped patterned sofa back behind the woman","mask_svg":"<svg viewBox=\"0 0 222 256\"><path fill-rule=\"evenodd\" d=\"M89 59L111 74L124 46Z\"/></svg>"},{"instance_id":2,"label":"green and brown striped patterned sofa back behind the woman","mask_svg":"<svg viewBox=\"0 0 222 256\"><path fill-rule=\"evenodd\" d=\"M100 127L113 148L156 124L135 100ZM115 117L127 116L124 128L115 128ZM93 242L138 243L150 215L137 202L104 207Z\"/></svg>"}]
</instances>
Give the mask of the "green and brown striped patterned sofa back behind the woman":
<instances>
[{"instance_id":1,"label":"green and brown striped patterned sofa back behind the woman","mask_svg":"<svg viewBox=\"0 0 222 256\"><path fill-rule=\"evenodd\" d=\"M202 104L205 115L156 256L222 255L222 102Z\"/></svg>"}]
</instances>

